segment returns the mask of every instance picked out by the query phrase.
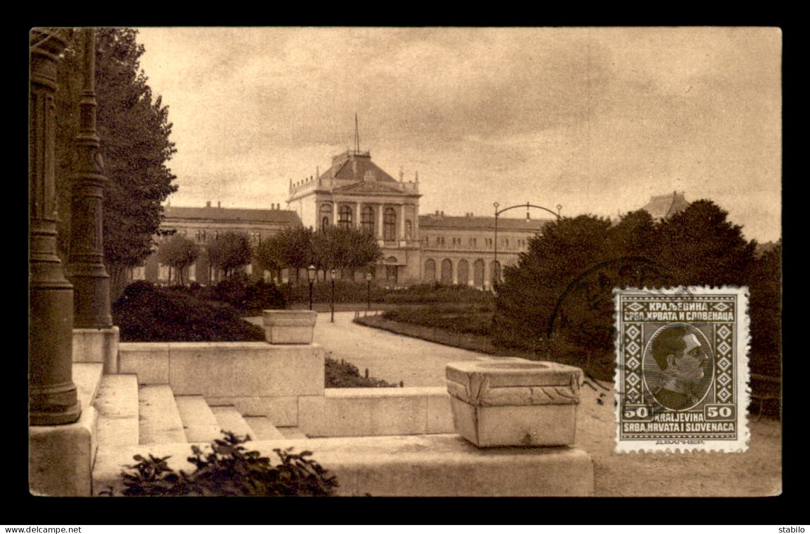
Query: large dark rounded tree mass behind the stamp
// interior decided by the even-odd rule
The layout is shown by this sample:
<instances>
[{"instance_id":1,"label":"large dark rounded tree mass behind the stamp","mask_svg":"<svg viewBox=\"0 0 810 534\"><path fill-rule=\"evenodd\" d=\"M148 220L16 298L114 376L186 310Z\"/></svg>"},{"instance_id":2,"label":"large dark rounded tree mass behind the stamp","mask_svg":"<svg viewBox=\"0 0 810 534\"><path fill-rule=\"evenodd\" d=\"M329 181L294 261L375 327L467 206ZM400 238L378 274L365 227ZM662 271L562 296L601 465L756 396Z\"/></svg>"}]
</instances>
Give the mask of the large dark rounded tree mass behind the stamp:
<instances>
[{"instance_id":1,"label":"large dark rounded tree mass behind the stamp","mask_svg":"<svg viewBox=\"0 0 810 534\"><path fill-rule=\"evenodd\" d=\"M578 355L584 361L574 363L602 368L601 376L609 379L614 287L744 285L755 248L727 212L708 200L660 223L646 211L629 213L617 224L591 216L562 219L546 225L529 240L518 264L505 268L493 332L503 344ZM780 263L781 257L763 254L757 275L762 286L757 298L774 310L761 321L771 335L779 318L778 288L770 280L778 277L774 266ZM757 313L752 308L752 324ZM773 337L761 340L774 344Z\"/></svg>"}]
</instances>

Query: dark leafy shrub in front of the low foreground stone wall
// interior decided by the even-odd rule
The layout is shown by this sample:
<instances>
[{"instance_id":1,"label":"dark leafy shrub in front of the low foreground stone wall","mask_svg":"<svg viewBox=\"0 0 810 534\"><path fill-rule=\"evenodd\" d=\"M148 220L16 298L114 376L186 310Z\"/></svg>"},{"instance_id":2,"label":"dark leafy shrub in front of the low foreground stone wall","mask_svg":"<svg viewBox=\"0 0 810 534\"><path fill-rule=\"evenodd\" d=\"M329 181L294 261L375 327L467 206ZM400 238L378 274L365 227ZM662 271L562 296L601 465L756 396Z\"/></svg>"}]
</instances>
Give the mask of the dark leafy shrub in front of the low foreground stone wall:
<instances>
[{"instance_id":1,"label":"dark leafy shrub in front of the low foreground stone wall","mask_svg":"<svg viewBox=\"0 0 810 534\"><path fill-rule=\"evenodd\" d=\"M204 452L191 446L194 454L188 458L194 472L175 472L168 467L170 456L156 458L135 455L138 464L126 466L122 471L122 494L128 497L325 497L338 487L335 476L309 457L310 451L300 454L289 449L273 449L280 464L273 465L258 451L248 451L242 443L250 437L240 438L223 431L224 438L211 442L211 451ZM113 489L102 492L113 495Z\"/></svg>"}]
</instances>

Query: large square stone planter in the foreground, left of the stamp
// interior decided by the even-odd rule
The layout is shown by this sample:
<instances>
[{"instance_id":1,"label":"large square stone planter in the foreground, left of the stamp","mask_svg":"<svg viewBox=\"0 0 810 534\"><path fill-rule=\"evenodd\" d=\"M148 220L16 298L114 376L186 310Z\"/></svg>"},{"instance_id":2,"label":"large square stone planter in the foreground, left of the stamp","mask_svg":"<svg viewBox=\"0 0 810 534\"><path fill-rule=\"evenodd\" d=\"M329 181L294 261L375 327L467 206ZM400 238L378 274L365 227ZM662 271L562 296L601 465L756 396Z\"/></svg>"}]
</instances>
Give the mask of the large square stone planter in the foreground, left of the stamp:
<instances>
[{"instance_id":1,"label":"large square stone planter in the foreground, left of the stamp","mask_svg":"<svg viewBox=\"0 0 810 534\"><path fill-rule=\"evenodd\" d=\"M582 370L510 358L450 363L458 434L479 447L573 445Z\"/></svg>"}]
</instances>

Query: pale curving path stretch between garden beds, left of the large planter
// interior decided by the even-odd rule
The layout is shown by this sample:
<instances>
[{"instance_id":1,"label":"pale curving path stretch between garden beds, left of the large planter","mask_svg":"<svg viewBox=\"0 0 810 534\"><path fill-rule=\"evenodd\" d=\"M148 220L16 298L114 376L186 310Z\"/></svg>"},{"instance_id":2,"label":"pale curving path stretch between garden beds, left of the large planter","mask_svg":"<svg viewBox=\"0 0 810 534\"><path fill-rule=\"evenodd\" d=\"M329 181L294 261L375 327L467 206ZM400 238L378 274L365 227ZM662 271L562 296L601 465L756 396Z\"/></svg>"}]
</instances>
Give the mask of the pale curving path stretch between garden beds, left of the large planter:
<instances>
[{"instance_id":1,"label":"pale curving path stretch between garden beds, left of the large planter","mask_svg":"<svg viewBox=\"0 0 810 534\"><path fill-rule=\"evenodd\" d=\"M463 348L417 340L404 335L352 323L355 312L319 313L314 342L321 344L326 356L356 365L363 374L406 387L445 386L445 365L449 361L473 360L484 356ZM261 325L262 318L250 318Z\"/></svg>"}]
</instances>

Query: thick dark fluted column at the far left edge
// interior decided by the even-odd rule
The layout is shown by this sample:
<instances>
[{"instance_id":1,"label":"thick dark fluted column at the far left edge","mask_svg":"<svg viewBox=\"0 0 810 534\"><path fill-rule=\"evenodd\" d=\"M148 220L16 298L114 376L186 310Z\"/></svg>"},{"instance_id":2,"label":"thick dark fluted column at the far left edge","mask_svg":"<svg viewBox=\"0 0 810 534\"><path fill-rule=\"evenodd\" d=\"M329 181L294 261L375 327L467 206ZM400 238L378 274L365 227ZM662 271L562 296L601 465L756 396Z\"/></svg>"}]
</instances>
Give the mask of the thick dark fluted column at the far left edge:
<instances>
[{"instance_id":1,"label":"thick dark fluted column at the far left edge","mask_svg":"<svg viewBox=\"0 0 810 534\"><path fill-rule=\"evenodd\" d=\"M54 95L58 57L66 41L58 31L35 28L29 44L29 422L65 425L81 415L73 382L73 287L56 254Z\"/></svg>"}]
</instances>

